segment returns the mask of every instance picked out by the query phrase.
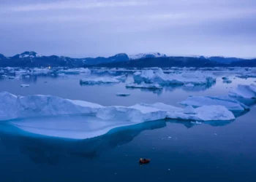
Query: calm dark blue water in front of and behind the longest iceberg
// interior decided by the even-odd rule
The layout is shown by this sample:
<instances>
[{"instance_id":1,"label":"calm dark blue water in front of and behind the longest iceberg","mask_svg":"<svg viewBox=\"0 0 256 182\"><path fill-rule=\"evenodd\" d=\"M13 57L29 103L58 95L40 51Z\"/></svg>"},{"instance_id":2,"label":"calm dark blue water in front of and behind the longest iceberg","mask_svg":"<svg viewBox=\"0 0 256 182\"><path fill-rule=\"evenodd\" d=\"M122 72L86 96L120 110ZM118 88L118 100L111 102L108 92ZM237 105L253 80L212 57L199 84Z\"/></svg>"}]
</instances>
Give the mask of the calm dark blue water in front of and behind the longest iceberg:
<instances>
[{"instance_id":1,"label":"calm dark blue water in front of and behind the longest iceberg","mask_svg":"<svg viewBox=\"0 0 256 182\"><path fill-rule=\"evenodd\" d=\"M226 95L226 87L236 87L238 81L252 82L236 79L232 84L217 82L207 90L164 90L160 95L131 90L130 97L118 98L116 92L127 92L123 84L81 87L77 81L39 78L29 82L31 87L20 88L25 81L2 80L0 90L103 105L157 101L178 106L176 102L187 95ZM251 106L251 111L234 122L145 122L83 141L24 135L1 122L0 181L256 181L255 111ZM150 158L151 163L140 166L141 157Z\"/></svg>"}]
</instances>

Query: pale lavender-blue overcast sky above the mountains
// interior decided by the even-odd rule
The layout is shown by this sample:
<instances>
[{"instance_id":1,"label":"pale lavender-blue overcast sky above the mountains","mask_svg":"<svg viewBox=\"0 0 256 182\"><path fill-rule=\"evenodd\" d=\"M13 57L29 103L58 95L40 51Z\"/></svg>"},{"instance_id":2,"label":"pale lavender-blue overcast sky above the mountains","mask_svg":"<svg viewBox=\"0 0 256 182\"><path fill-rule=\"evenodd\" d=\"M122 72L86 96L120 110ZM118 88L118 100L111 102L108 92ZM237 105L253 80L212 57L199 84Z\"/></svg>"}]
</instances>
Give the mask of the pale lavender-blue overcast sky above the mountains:
<instances>
[{"instance_id":1,"label":"pale lavender-blue overcast sky above the mountains","mask_svg":"<svg viewBox=\"0 0 256 182\"><path fill-rule=\"evenodd\" d=\"M256 57L255 0L0 0L0 53Z\"/></svg>"}]
</instances>

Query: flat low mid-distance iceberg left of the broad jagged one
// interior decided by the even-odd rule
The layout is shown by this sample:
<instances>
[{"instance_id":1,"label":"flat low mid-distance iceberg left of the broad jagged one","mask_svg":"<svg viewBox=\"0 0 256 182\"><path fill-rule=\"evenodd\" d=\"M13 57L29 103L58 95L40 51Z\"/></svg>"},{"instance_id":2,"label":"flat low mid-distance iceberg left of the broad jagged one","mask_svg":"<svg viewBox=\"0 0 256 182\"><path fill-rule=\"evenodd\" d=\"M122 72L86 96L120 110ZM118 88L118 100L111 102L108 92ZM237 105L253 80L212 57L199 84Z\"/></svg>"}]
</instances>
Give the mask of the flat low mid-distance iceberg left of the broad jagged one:
<instances>
[{"instance_id":1,"label":"flat low mid-distance iceberg left of the broad jagged one","mask_svg":"<svg viewBox=\"0 0 256 182\"><path fill-rule=\"evenodd\" d=\"M80 79L80 84L116 84L119 83L120 80L114 77L97 77L97 78L85 78Z\"/></svg>"}]
</instances>

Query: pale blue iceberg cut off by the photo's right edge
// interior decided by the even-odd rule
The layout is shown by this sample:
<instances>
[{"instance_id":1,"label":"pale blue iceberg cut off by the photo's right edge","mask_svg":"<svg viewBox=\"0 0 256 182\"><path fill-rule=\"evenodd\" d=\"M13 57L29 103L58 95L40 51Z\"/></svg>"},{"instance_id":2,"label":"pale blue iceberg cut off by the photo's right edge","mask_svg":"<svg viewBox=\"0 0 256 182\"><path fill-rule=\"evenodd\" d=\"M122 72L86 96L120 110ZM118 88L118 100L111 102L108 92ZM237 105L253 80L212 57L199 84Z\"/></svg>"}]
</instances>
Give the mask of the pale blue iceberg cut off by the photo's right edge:
<instances>
[{"instance_id":1,"label":"pale blue iceberg cut off by the photo's right edge","mask_svg":"<svg viewBox=\"0 0 256 182\"><path fill-rule=\"evenodd\" d=\"M229 95L230 97L233 97L233 98L255 99L256 85L255 84L249 84L249 85L238 84L238 87L236 89L230 90Z\"/></svg>"}]
</instances>

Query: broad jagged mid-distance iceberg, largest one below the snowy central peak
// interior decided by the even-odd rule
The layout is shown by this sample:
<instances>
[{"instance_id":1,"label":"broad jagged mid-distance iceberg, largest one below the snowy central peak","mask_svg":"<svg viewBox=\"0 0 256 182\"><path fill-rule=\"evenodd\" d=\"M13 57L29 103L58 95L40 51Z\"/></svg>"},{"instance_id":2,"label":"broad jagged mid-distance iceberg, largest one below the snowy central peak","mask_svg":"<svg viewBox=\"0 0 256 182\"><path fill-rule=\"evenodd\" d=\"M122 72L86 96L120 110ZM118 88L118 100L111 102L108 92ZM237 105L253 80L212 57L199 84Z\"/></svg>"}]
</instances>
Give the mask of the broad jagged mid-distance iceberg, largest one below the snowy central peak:
<instances>
[{"instance_id":1,"label":"broad jagged mid-distance iceberg, largest one below the snowy central peak","mask_svg":"<svg viewBox=\"0 0 256 182\"><path fill-rule=\"evenodd\" d=\"M161 68L155 71L137 71L133 75L133 79L136 83L158 83L162 86L170 84L212 84L216 82L216 77L213 74L206 74L201 71L165 74Z\"/></svg>"}]
</instances>

